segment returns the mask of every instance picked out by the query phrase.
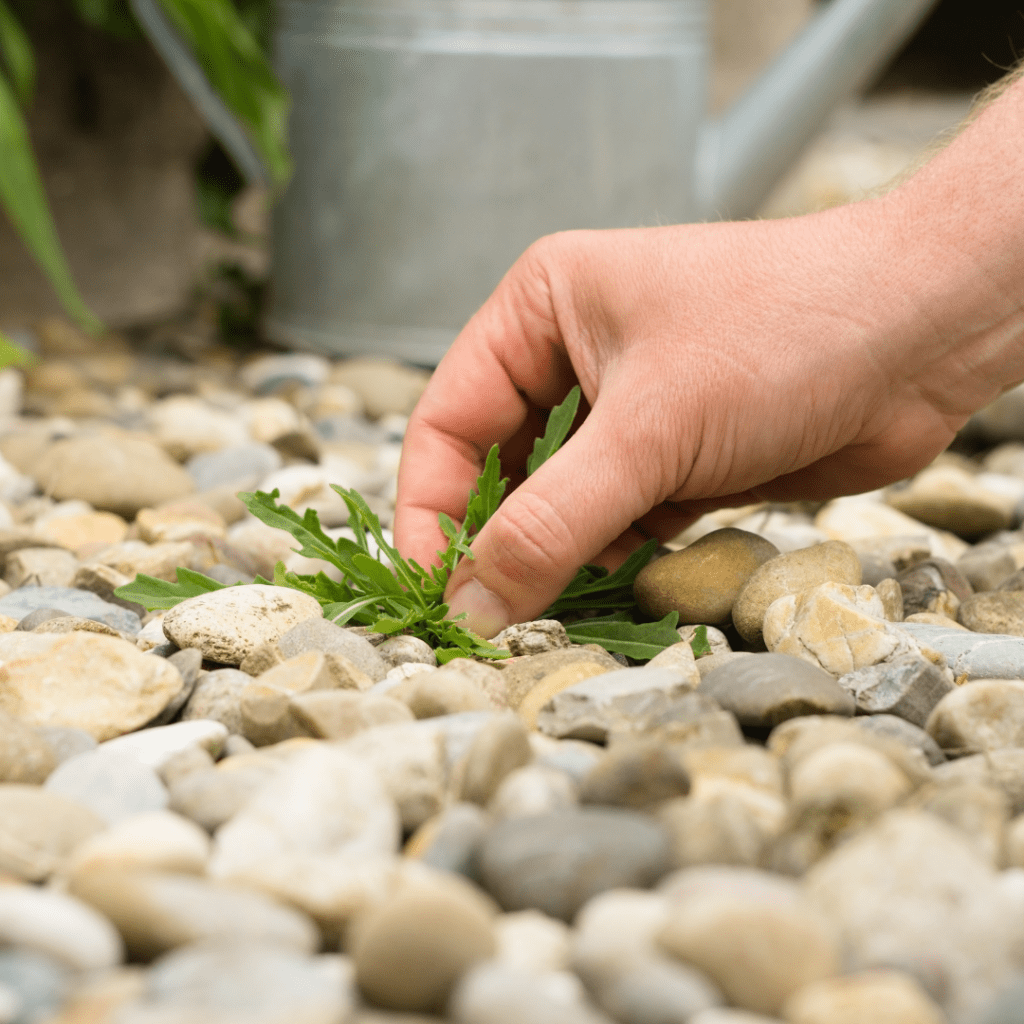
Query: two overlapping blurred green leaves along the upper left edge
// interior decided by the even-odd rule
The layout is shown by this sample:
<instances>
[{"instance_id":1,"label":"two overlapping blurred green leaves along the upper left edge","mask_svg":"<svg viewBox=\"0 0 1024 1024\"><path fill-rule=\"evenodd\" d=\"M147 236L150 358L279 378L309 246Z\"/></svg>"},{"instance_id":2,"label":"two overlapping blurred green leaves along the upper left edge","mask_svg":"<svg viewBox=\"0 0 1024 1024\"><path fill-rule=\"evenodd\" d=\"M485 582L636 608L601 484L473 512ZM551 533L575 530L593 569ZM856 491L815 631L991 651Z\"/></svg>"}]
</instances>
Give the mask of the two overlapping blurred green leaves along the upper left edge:
<instances>
[{"instance_id":1,"label":"two overlapping blurred green leaves along the upper left edge","mask_svg":"<svg viewBox=\"0 0 1024 1024\"><path fill-rule=\"evenodd\" d=\"M19 100L28 103L35 78L32 50L5 0L0 0L0 206L42 267L61 305L87 331L99 321L82 301L57 241Z\"/></svg>"}]
</instances>

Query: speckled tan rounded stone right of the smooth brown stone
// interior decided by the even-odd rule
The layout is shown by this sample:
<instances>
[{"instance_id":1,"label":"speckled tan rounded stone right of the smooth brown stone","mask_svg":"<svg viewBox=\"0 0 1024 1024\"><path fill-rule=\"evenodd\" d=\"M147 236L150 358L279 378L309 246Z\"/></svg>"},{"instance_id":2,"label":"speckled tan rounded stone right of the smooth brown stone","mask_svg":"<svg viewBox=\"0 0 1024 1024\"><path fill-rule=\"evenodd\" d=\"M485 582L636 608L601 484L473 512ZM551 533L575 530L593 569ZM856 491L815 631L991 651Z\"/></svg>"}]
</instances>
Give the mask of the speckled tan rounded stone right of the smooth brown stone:
<instances>
[{"instance_id":1,"label":"speckled tan rounded stone right of the smooth brown stone","mask_svg":"<svg viewBox=\"0 0 1024 1024\"><path fill-rule=\"evenodd\" d=\"M760 643L762 623L773 601L823 583L860 585L860 561L848 544L827 541L764 562L737 595L732 608L733 624L748 643Z\"/></svg>"}]
</instances>

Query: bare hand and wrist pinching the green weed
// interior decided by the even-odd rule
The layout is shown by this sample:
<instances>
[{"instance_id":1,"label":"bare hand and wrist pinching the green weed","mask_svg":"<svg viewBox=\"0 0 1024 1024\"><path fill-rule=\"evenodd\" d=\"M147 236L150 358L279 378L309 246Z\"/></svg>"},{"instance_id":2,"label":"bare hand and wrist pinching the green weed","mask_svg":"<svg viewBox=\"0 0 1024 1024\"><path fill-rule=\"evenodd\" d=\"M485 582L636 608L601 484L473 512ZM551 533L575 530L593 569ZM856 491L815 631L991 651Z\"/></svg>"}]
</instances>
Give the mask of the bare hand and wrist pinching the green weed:
<instances>
[{"instance_id":1,"label":"bare hand and wrist pinching the green weed","mask_svg":"<svg viewBox=\"0 0 1024 1024\"><path fill-rule=\"evenodd\" d=\"M776 221L540 240L414 412L395 537L426 564L487 450L514 489L446 590L494 636L585 562L716 508L858 494L926 466L1024 379L1024 81L886 196ZM586 415L524 479L542 411Z\"/></svg>"}]
</instances>

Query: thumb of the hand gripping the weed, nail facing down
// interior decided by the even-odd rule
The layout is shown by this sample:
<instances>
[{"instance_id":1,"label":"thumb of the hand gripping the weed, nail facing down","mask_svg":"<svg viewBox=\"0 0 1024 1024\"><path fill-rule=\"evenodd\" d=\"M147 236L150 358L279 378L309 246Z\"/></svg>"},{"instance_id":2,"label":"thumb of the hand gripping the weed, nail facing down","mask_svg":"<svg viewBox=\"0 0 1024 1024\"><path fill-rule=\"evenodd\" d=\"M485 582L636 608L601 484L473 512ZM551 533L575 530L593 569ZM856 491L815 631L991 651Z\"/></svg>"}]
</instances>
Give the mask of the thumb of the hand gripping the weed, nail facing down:
<instances>
[{"instance_id":1,"label":"thumb of the hand gripping the weed, nail facing down","mask_svg":"<svg viewBox=\"0 0 1024 1024\"><path fill-rule=\"evenodd\" d=\"M624 437L624 421L614 429L613 420L592 410L499 507L473 541L474 557L464 558L449 581L451 617L465 612L465 625L484 637L535 618L581 565L654 504L639 484L638 449Z\"/></svg>"}]
</instances>

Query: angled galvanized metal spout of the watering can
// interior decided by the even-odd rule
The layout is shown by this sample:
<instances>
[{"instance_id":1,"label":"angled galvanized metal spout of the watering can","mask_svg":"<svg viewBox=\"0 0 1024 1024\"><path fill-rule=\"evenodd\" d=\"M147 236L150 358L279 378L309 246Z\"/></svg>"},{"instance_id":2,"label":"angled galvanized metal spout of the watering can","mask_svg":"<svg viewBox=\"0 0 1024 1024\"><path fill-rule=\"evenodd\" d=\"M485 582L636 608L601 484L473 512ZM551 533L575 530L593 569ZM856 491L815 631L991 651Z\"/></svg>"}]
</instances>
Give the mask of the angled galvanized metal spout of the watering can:
<instances>
[{"instance_id":1,"label":"angled galvanized metal spout of the watering can","mask_svg":"<svg viewBox=\"0 0 1024 1024\"><path fill-rule=\"evenodd\" d=\"M753 215L837 102L871 78L934 2L829 0L760 80L703 126L698 215Z\"/></svg>"}]
</instances>

